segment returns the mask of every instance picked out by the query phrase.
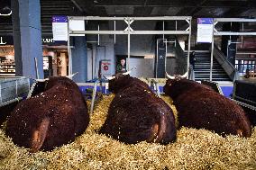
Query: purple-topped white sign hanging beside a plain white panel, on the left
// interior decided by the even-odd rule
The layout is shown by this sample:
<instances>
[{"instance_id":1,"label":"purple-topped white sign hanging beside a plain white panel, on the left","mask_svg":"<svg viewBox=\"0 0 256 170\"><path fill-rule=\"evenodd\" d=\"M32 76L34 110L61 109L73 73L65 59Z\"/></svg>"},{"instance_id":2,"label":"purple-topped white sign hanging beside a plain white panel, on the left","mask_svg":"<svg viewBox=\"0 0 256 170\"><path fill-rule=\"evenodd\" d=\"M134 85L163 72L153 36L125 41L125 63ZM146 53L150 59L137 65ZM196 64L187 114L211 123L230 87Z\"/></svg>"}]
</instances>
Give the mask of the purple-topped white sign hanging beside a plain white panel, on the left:
<instances>
[{"instance_id":1,"label":"purple-topped white sign hanging beside a plain white panel, on the left","mask_svg":"<svg viewBox=\"0 0 256 170\"><path fill-rule=\"evenodd\" d=\"M68 40L68 17L52 16L53 40Z\"/></svg>"}]
</instances>

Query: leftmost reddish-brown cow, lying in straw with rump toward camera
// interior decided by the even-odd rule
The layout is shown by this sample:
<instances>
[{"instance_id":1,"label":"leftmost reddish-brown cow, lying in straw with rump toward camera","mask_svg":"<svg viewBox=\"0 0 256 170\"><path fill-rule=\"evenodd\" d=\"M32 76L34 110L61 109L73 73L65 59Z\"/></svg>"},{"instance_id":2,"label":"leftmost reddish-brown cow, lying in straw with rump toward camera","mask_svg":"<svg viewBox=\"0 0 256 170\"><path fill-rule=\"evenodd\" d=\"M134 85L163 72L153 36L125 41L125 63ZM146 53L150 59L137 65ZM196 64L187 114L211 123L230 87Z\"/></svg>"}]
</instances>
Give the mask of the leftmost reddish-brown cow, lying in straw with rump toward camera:
<instances>
[{"instance_id":1,"label":"leftmost reddish-brown cow, lying in straw with rump toward camera","mask_svg":"<svg viewBox=\"0 0 256 170\"><path fill-rule=\"evenodd\" d=\"M87 103L78 85L67 77L50 77L44 92L15 107L6 134L32 152L51 150L73 141L88 122Z\"/></svg>"}]
</instances>

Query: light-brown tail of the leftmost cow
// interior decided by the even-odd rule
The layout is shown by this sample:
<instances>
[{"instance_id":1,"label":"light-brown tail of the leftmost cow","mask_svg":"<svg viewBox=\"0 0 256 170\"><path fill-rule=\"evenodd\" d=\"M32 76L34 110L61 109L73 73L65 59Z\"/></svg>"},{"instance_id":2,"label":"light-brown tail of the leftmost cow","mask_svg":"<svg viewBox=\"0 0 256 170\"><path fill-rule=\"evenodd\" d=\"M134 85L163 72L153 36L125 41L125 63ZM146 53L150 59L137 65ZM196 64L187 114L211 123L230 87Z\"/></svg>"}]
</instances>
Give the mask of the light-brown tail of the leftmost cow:
<instances>
[{"instance_id":1,"label":"light-brown tail of the leftmost cow","mask_svg":"<svg viewBox=\"0 0 256 170\"><path fill-rule=\"evenodd\" d=\"M32 132L32 140L31 140L31 152L37 152L46 138L46 134L49 128L50 118L44 118L37 130L33 130Z\"/></svg>"}]
</instances>

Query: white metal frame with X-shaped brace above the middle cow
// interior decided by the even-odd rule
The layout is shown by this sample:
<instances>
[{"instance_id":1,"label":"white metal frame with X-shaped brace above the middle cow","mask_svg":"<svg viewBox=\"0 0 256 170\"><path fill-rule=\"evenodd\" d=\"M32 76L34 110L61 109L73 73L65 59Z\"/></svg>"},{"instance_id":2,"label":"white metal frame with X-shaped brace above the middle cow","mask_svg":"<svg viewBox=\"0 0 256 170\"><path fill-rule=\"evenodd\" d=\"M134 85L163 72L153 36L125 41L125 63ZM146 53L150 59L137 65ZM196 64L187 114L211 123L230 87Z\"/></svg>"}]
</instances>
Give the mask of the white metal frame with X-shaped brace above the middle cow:
<instances>
[{"instance_id":1,"label":"white metal frame with X-shaped brace above the middle cow","mask_svg":"<svg viewBox=\"0 0 256 170\"><path fill-rule=\"evenodd\" d=\"M99 24L98 29L94 31L76 31L72 30L69 27L69 21L72 20L81 20L81 21L113 21L114 22L114 30L108 31L101 31ZM127 24L127 28L123 31L117 31L115 28L115 22L123 21ZM151 31L151 30L136 30L135 26L132 25L134 21L185 21L188 23L188 27L186 30L163 30L163 31ZM74 36L75 34L94 34L98 35L98 45L99 36L103 34L107 35L114 35L114 43L115 43L115 36L118 34L126 35L127 36L127 69L130 70L130 56L131 56L131 35L140 34L140 35L188 35L188 53L190 51L190 38L191 38L191 23L192 17L191 16L158 16L158 17L99 17L99 16L69 16L68 17L68 53L69 53L69 75L72 75L72 53L70 49L70 36ZM188 61L187 61L188 64ZM188 67L187 67L188 68ZM186 69L187 71L187 69Z\"/></svg>"}]
</instances>

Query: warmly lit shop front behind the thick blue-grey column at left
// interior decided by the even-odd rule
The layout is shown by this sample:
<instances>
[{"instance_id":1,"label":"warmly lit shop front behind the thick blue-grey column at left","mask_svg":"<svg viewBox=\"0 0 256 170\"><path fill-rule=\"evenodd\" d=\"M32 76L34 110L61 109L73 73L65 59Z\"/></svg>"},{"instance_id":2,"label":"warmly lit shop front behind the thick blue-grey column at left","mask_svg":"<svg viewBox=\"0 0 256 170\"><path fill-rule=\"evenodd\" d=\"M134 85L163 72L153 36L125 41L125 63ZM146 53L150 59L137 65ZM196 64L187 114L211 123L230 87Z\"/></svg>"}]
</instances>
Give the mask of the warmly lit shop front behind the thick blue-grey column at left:
<instances>
[{"instance_id":1,"label":"warmly lit shop front behind the thick blue-grey column at left","mask_svg":"<svg viewBox=\"0 0 256 170\"><path fill-rule=\"evenodd\" d=\"M67 42L55 42L51 36L43 36L41 43L44 77L67 76L69 67ZM0 76L15 76L12 36L0 36Z\"/></svg>"}]
</instances>

